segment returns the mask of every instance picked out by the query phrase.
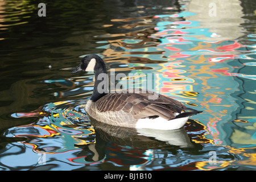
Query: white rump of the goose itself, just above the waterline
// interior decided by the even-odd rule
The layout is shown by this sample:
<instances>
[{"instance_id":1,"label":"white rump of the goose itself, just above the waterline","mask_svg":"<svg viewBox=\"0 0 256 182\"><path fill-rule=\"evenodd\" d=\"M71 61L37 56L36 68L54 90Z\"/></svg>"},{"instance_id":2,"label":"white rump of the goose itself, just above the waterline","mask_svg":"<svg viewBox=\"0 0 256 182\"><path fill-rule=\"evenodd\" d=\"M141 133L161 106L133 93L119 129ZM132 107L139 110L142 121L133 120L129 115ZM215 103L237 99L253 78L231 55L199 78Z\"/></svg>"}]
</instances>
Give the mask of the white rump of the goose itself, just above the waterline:
<instances>
[{"instance_id":1,"label":"white rump of the goose itself, just above the waterline","mask_svg":"<svg viewBox=\"0 0 256 182\"><path fill-rule=\"evenodd\" d=\"M188 121L189 117L177 118L177 119L163 119L161 117L150 119L139 119L136 123L137 129L156 129L156 130L176 130L180 129Z\"/></svg>"}]
</instances>

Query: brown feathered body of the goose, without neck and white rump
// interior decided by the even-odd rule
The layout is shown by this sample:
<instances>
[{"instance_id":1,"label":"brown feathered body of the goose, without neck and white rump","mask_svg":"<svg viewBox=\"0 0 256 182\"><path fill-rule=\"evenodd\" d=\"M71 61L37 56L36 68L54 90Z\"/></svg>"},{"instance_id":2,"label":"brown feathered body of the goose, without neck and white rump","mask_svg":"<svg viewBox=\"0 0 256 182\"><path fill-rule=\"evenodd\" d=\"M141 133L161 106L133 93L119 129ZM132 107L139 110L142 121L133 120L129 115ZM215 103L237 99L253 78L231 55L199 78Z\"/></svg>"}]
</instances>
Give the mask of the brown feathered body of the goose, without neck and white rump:
<instances>
[{"instance_id":1,"label":"brown feathered body of the goose, without neck and white rump","mask_svg":"<svg viewBox=\"0 0 256 182\"><path fill-rule=\"evenodd\" d=\"M133 93L109 93L96 102L89 100L85 110L98 121L123 127L136 127L137 121L143 118L171 120L181 113L184 117L197 113L195 110L185 113L192 109L172 98L157 94L156 99L150 99L148 96L152 95L141 89L134 89Z\"/></svg>"}]
</instances>

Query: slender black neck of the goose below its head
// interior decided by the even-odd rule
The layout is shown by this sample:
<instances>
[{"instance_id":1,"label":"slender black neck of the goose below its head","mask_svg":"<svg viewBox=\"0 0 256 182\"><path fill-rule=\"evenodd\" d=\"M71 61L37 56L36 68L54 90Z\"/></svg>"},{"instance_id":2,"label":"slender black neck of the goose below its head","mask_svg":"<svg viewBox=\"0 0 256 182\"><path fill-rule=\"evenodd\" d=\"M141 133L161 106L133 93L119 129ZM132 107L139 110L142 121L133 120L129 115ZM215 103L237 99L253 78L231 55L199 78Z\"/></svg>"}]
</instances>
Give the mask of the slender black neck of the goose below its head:
<instances>
[{"instance_id":1,"label":"slender black neck of the goose below its head","mask_svg":"<svg viewBox=\"0 0 256 182\"><path fill-rule=\"evenodd\" d=\"M95 73L95 81L94 81L94 88L93 88L93 94L90 100L93 102L96 102L101 97L108 94L108 75L106 74L106 67L105 65L102 65L101 68L96 68L94 70L97 70Z\"/></svg>"}]
</instances>

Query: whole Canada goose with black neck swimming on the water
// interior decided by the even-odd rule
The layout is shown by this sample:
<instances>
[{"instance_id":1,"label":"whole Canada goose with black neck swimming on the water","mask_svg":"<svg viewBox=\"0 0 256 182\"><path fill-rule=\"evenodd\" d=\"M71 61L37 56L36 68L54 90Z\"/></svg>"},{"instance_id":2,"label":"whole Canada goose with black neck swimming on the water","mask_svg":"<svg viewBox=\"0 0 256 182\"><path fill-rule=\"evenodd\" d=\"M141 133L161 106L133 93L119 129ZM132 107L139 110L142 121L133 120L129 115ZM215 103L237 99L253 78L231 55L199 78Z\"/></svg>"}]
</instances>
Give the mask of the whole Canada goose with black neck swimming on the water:
<instances>
[{"instance_id":1,"label":"whole Canada goose with black neck swimming on the water","mask_svg":"<svg viewBox=\"0 0 256 182\"><path fill-rule=\"evenodd\" d=\"M142 89L134 89L133 93L108 93L107 88L102 90L98 85L107 80L98 79L101 73L106 75L106 66L100 56L90 54L82 58L72 74L81 71L95 74L93 94L85 111L97 121L137 129L174 130L183 127L189 116L202 112L161 94L151 99L150 96L156 93L144 93ZM101 89L98 90L98 87Z\"/></svg>"}]
</instances>

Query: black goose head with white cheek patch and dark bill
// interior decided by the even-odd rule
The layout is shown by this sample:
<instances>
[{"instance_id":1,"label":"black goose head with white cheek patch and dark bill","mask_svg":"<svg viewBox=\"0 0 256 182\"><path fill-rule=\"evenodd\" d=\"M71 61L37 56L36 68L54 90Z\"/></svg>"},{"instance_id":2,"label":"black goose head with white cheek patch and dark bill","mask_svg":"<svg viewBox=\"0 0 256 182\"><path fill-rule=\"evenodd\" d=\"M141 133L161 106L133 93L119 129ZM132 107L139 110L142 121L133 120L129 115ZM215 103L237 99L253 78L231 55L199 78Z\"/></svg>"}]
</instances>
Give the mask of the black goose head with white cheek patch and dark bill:
<instances>
[{"instance_id":1,"label":"black goose head with white cheek patch and dark bill","mask_svg":"<svg viewBox=\"0 0 256 182\"><path fill-rule=\"evenodd\" d=\"M94 72L94 73L106 73L106 67L104 61L101 59L100 56L97 55L87 55L81 59L81 63L78 67L72 72L79 73L79 72Z\"/></svg>"}]
</instances>

